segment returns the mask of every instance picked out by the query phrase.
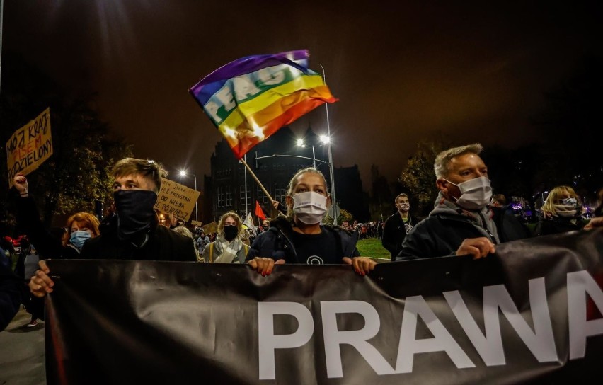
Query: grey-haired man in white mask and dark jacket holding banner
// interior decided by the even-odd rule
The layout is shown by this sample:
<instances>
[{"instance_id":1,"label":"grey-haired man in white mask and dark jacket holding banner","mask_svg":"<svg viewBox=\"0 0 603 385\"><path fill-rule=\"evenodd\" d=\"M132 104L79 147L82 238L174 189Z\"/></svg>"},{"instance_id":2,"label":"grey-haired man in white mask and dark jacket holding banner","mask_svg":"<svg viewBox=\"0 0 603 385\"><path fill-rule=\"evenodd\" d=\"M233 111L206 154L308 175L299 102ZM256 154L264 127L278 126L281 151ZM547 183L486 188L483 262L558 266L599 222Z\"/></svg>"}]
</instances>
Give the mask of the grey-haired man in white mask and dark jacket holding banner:
<instances>
[{"instance_id":1,"label":"grey-haired man in white mask and dark jacket holding banner","mask_svg":"<svg viewBox=\"0 0 603 385\"><path fill-rule=\"evenodd\" d=\"M429 217L406 236L396 260L494 253L494 245L509 239L497 229L489 203L492 188L479 143L454 147L437 155L434 163L440 193Z\"/></svg>"}]
</instances>

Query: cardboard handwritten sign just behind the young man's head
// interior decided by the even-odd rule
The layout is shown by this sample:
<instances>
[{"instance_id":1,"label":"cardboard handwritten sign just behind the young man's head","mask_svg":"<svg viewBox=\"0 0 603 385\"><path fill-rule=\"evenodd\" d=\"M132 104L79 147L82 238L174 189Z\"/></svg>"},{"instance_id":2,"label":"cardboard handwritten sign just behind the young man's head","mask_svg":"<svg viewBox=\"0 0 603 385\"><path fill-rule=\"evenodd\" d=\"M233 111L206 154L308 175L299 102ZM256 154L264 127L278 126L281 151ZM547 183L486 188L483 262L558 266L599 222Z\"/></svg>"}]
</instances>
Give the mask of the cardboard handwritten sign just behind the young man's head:
<instances>
[{"instance_id":1,"label":"cardboard handwritten sign just behind the young man's head","mask_svg":"<svg viewBox=\"0 0 603 385\"><path fill-rule=\"evenodd\" d=\"M199 195L200 192L197 190L180 185L173 180L161 178L161 190L157 202L155 202L155 209L166 214L173 214L176 219L188 222Z\"/></svg>"}]
</instances>

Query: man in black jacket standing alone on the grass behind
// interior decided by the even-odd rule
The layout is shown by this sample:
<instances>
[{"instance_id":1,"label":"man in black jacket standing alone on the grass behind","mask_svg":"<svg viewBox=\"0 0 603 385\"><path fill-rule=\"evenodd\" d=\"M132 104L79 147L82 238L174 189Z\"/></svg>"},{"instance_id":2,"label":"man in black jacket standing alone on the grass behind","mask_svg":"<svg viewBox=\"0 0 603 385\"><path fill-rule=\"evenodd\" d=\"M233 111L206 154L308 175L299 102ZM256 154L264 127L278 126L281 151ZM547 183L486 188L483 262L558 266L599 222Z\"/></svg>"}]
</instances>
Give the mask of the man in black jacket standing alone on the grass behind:
<instances>
[{"instance_id":1,"label":"man in black jacket standing alone on the grass behind","mask_svg":"<svg viewBox=\"0 0 603 385\"><path fill-rule=\"evenodd\" d=\"M410 200L408 194L402 193L394 199L396 213L385 220L381 244L389 251L391 260L402 250L402 242L406 234L413 229L419 220L410 214Z\"/></svg>"}]
</instances>

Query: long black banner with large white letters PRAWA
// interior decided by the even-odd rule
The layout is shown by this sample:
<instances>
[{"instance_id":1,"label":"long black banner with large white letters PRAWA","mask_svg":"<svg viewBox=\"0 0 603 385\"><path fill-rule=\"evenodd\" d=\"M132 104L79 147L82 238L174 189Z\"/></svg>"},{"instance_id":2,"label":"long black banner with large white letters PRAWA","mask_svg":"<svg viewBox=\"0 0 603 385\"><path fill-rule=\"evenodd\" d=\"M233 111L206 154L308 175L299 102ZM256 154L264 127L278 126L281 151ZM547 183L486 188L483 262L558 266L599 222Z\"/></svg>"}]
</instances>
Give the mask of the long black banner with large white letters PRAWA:
<instances>
[{"instance_id":1,"label":"long black banner with large white letters PRAWA","mask_svg":"<svg viewBox=\"0 0 603 385\"><path fill-rule=\"evenodd\" d=\"M603 229L481 260L52 260L48 384L598 384Z\"/></svg>"}]
</instances>

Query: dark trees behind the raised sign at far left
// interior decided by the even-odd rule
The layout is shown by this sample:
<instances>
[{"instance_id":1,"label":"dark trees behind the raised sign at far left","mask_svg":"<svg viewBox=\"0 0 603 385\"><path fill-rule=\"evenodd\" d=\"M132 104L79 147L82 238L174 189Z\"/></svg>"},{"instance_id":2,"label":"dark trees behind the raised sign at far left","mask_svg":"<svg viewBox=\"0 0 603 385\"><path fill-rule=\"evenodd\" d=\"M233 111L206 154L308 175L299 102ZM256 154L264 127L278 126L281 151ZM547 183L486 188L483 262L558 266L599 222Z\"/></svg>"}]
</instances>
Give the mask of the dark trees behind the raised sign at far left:
<instances>
[{"instance_id":1,"label":"dark trees behind the raised sign at far left","mask_svg":"<svg viewBox=\"0 0 603 385\"><path fill-rule=\"evenodd\" d=\"M108 173L113 163L131 156L122 139L112 137L93 106L93 96L72 96L39 69L6 54L0 91L0 221L13 222L6 172L6 142L18 128L50 107L53 154L30 173L28 183L47 226L56 214L95 212L111 200ZM5 234L2 234L5 235Z\"/></svg>"}]
</instances>

